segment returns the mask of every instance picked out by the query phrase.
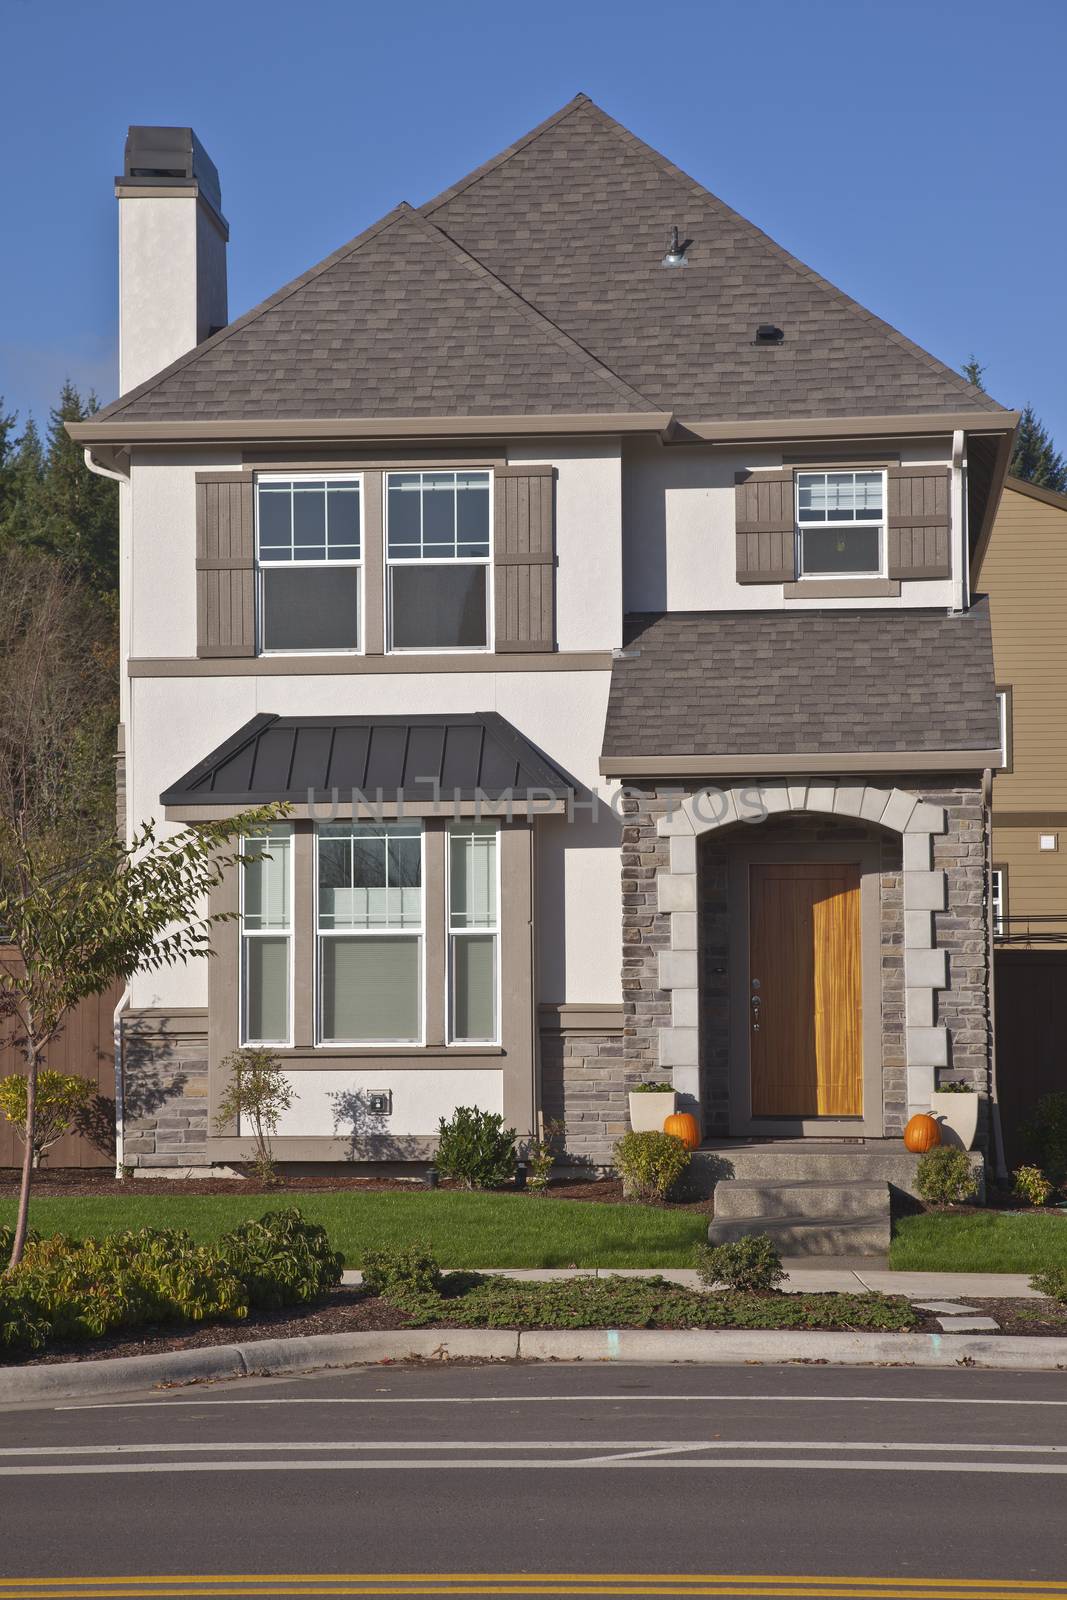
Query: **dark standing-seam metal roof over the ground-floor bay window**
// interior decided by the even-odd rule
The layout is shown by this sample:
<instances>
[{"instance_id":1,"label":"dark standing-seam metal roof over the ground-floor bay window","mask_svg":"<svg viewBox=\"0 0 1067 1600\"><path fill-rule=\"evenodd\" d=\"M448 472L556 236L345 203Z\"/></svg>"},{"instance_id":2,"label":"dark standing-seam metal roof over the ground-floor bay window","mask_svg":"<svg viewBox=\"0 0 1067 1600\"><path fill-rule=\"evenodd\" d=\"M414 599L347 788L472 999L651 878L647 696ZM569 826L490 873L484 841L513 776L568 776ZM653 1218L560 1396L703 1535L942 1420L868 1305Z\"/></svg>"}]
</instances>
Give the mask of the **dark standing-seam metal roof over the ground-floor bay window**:
<instances>
[{"instance_id":1,"label":"dark standing-seam metal roof over the ground-floor bay window","mask_svg":"<svg viewBox=\"0 0 1067 1600\"><path fill-rule=\"evenodd\" d=\"M272 800L442 802L475 789L491 798L528 789L565 798L573 784L498 712L454 717L253 717L160 795L163 805L256 806Z\"/></svg>"}]
</instances>

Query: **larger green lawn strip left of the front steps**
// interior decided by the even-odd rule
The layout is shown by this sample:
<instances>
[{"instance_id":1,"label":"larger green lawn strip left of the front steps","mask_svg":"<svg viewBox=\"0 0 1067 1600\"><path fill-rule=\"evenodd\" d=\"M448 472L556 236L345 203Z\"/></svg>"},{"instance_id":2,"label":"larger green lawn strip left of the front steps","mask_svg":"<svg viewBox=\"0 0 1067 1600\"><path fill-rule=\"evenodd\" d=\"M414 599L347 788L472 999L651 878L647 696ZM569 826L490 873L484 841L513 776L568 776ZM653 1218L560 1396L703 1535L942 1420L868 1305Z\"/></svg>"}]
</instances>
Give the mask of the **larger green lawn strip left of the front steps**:
<instances>
[{"instance_id":1,"label":"larger green lawn strip left of the front steps","mask_svg":"<svg viewBox=\"0 0 1067 1600\"><path fill-rule=\"evenodd\" d=\"M77 1237L138 1227L184 1227L198 1243L235 1222L296 1205L322 1222L349 1267L365 1250L429 1240L445 1267L688 1267L707 1238L699 1211L522 1194L107 1195L32 1202L38 1234ZM14 1222L14 1200L0 1200L0 1226Z\"/></svg>"}]
</instances>

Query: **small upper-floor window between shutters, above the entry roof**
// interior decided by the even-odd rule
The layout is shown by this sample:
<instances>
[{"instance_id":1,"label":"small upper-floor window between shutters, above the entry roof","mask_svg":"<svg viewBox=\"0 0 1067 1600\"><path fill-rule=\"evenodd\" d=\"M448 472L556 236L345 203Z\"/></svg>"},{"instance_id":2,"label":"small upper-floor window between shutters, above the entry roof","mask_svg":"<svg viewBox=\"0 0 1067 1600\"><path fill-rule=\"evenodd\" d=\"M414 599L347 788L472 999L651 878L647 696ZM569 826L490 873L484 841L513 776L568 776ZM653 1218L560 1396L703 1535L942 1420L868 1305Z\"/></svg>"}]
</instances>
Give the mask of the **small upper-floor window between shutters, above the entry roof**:
<instances>
[{"instance_id":1,"label":"small upper-floor window between shutters, above the entry roof","mask_svg":"<svg viewBox=\"0 0 1067 1600\"><path fill-rule=\"evenodd\" d=\"M800 576L878 578L883 560L885 472L798 472Z\"/></svg>"}]
</instances>

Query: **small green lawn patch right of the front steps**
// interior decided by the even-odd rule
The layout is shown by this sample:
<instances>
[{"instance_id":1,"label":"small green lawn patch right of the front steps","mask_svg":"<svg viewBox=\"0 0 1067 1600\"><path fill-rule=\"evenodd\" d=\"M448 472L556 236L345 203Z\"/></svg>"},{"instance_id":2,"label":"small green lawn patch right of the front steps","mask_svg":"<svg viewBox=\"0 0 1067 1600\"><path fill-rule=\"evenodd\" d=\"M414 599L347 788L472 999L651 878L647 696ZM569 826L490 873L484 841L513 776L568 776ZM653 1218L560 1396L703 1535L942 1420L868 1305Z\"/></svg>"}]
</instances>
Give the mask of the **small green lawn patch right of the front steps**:
<instances>
[{"instance_id":1,"label":"small green lawn patch right of the front steps","mask_svg":"<svg viewBox=\"0 0 1067 1600\"><path fill-rule=\"evenodd\" d=\"M893 1226L899 1272L1038 1272L1067 1266L1067 1216L926 1211Z\"/></svg>"}]
</instances>

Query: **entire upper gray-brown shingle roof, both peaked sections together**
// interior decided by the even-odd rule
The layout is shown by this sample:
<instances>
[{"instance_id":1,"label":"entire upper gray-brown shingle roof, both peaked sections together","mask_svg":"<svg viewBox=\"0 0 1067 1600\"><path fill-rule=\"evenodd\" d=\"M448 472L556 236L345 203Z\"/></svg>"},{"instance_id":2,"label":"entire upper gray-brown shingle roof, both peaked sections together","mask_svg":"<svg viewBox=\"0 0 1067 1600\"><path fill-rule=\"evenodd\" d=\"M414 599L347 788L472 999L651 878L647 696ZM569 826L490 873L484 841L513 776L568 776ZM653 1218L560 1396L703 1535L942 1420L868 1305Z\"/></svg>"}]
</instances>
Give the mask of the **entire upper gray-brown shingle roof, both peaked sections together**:
<instances>
[{"instance_id":1,"label":"entire upper gray-brown shingle roof, both peaked sections together","mask_svg":"<svg viewBox=\"0 0 1067 1600\"><path fill-rule=\"evenodd\" d=\"M992 408L582 94L93 421Z\"/></svg>"}]
</instances>

